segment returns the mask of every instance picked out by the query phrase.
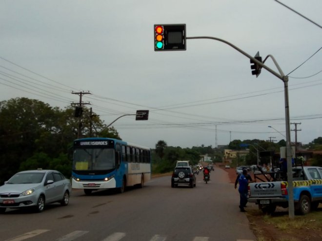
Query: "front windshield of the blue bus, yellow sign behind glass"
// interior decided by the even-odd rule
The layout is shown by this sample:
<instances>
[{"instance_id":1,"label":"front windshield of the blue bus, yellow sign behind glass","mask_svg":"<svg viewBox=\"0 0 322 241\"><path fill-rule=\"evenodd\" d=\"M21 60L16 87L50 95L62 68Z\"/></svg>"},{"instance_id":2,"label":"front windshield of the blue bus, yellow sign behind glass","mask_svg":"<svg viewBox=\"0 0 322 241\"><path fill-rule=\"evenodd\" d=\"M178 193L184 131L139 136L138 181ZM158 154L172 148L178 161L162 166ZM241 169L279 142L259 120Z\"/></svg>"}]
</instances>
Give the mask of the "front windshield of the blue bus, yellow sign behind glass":
<instances>
[{"instance_id":1,"label":"front windshield of the blue bus, yellow sign behind glass","mask_svg":"<svg viewBox=\"0 0 322 241\"><path fill-rule=\"evenodd\" d=\"M115 168L113 148L82 148L74 150L73 170L110 170Z\"/></svg>"}]
</instances>

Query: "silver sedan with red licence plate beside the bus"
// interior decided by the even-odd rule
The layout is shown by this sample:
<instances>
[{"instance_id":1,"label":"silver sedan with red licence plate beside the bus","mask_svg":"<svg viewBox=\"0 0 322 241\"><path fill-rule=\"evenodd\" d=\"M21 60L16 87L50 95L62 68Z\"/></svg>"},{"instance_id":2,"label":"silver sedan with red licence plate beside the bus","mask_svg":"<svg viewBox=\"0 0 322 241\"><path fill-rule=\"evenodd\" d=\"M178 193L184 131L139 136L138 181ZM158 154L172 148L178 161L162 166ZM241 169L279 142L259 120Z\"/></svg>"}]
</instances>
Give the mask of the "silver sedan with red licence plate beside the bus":
<instances>
[{"instance_id":1,"label":"silver sedan with red licence plate beside the bus","mask_svg":"<svg viewBox=\"0 0 322 241\"><path fill-rule=\"evenodd\" d=\"M0 213L6 208L32 207L41 212L45 204L69 203L72 187L56 170L29 170L13 175L0 186Z\"/></svg>"}]
</instances>

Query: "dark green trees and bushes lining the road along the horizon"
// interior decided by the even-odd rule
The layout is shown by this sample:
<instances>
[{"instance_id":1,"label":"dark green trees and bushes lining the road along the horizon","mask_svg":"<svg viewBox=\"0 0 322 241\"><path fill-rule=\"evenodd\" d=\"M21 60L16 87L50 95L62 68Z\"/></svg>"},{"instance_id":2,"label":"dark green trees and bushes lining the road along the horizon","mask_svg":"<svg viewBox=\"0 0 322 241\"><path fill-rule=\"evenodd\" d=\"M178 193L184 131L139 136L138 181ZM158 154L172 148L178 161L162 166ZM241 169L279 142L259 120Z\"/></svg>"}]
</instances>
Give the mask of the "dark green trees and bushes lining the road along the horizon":
<instances>
[{"instance_id":1,"label":"dark green trees and bushes lining the road along the horizon","mask_svg":"<svg viewBox=\"0 0 322 241\"><path fill-rule=\"evenodd\" d=\"M71 175L72 145L78 138L81 119L81 137L110 137L121 140L118 131L107 124L100 116L83 106L82 115L75 117L75 106L65 109L51 107L35 99L15 98L0 101L0 185L13 174L27 169L56 169L66 177ZM227 147L213 148L198 146L192 148L168 147L160 140L151 150L153 174L167 173L173 170L177 160L189 160L192 165L202 158L213 163L222 163L224 149L245 149L240 144L259 144L268 150L279 150L285 141L271 143L262 140L233 140ZM249 154L235 158L231 167L257 163L256 150L249 146ZM304 148L322 150L322 137L314 139ZM322 155L312 158L311 164L322 166ZM265 162L265 159L262 159Z\"/></svg>"}]
</instances>

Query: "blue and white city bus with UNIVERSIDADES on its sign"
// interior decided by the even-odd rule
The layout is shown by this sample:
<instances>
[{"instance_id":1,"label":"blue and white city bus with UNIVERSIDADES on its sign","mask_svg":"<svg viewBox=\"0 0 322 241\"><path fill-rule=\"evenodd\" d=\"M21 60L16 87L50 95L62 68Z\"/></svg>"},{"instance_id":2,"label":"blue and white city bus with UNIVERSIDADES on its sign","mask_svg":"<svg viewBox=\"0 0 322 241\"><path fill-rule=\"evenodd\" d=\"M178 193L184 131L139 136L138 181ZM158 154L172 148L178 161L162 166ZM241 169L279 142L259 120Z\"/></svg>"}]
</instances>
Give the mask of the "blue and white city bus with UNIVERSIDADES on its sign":
<instances>
[{"instance_id":1,"label":"blue and white city bus with UNIVERSIDADES on its sign","mask_svg":"<svg viewBox=\"0 0 322 241\"><path fill-rule=\"evenodd\" d=\"M86 195L98 189L138 185L151 179L149 148L112 138L82 138L74 141L72 187Z\"/></svg>"}]
</instances>

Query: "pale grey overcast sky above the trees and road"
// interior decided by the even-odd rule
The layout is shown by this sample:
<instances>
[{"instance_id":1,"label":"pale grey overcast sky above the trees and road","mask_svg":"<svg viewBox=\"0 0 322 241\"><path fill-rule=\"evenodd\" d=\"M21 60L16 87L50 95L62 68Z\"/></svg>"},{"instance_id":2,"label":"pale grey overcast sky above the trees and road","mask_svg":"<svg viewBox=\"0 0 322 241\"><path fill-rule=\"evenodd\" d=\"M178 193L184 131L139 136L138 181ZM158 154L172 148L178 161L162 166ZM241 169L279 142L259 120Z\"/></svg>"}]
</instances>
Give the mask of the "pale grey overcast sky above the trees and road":
<instances>
[{"instance_id":1,"label":"pale grey overcast sky above the trees and road","mask_svg":"<svg viewBox=\"0 0 322 241\"><path fill-rule=\"evenodd\" d=\"M321 0L281 2L322 25ZM89 91L83 101L106 124L149 110L148 121L113 125L123 140L150 148L285 139L282 80L266 70L256 78L247 57L215 40L155 52L154 24L171 23L185 23L187 37L272 55L285 75L318 51L289 74L289 104L298 142L322 136L322 29L275 0L2 0L0 101L28 97L64 109L79 102L72 91ZM278 72L271 59L265 64Z\"/></svg>"}]
</instances>

